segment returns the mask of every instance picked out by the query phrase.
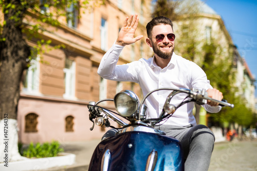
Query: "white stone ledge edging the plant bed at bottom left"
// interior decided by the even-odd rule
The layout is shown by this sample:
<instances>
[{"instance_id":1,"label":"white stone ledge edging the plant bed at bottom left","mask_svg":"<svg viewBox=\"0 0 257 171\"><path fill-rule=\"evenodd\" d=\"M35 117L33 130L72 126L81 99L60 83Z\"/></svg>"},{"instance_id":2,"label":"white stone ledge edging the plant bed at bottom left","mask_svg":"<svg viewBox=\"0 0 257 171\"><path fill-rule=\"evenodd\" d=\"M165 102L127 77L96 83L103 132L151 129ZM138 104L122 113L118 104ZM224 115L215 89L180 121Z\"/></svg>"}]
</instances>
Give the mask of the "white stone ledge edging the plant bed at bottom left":
<instances>
[{"instance_id":1,"label":"white stone ledge edging the plant bed at bottom left","mask_svg":"<svg viewBox=\"0 0 257 171\"><path fill-rule=\"evenodd\" d=\"M43 170L51 167L72 165L75 163L76 155L70 153L60 153L59 155L60 156L57 157L26 159L21 161L8 162L8 167L4 166L6 163L0 163L0 170Z\"/></svg>"}]
</instances>

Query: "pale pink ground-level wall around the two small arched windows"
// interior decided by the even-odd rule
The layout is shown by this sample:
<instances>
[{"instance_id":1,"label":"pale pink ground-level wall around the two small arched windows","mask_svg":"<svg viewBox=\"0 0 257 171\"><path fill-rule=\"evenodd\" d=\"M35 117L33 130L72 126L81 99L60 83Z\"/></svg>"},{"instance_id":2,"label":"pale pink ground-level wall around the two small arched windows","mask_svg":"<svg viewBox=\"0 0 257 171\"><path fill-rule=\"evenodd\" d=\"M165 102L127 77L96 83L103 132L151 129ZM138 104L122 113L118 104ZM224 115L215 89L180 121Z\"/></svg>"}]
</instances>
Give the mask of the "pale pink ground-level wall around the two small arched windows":
<instances>
[{"instance_id":1,"label":"pale pink ground-level wall around the two small arched windows","mask_svg":"<svg viewBox=\"0 0 257 171\"><path fill-rule=\"evenodd\" d=\"M25 116L28 113L38 115L38 132L25 132ZM74 102L57 98L40 98L22 95L18 106L19 140L22 143L64 141L85 141L100 139L105 131L93 125L88 119L86 102ZM65 132L65 118L74 117L74 131ZM106 129L107 130L107 129Z\"/></svg>"}]
</instances>

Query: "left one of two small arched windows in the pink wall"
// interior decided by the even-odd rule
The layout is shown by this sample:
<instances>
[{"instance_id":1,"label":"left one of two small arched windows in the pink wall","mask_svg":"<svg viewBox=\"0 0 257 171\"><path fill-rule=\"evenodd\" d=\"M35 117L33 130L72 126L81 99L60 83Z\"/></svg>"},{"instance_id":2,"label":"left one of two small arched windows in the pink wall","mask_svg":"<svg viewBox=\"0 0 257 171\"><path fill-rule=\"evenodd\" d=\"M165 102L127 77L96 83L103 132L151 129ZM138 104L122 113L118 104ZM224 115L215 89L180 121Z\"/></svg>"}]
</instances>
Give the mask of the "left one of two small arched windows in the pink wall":
<instances>
[{"instance_id":1,"label":"left one of two small arched windows in the pink wall","mask_svg":"<svg viewBox=\"0 0 257 171\"><path fill-rule=\"evenodd\" d=\"M38 117L35 113L29 113L25 116L25 132L38 132L38 129L36 129Z\"/></svg>"}]
</instances>

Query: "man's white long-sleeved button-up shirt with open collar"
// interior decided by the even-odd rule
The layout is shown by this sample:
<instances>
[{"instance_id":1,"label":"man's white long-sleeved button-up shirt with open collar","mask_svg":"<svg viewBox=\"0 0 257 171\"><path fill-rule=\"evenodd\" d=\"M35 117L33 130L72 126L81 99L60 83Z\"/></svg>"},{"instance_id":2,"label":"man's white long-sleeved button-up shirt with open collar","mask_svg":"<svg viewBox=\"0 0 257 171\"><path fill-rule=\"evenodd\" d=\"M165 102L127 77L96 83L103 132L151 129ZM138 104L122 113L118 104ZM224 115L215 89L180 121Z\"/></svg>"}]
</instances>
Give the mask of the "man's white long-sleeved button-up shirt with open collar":
<instances>
[{"instance_id":1,"label":"man's white long-sleeved button-up shirt with open collar","mask_svg":"<svg viewBox=\"0 0 257 171\"><path fill-rule=\"evenodd\" d=\"M156 65L154 57L148 60L140 59L124 65L116 65L119 54L124 46L114 44L103 56L98 68L98 74L108 80L130 81L138 83L145 96L157 88L196 88L209 89L212 86L207 80L206 74L198 65L173 53L167 67L161 69ZM161 90L154 92L145 101L148 106L148 118L159 117L163 105L171 91ZM187 94L179 93L171 100L171 104L177 105L186 98ZM221 106L203 105L209 112L218 112ZM163 124L186 126L196 125L192 110L194 102L179 107L172 117Z\"/></svg>"}]
</instances>

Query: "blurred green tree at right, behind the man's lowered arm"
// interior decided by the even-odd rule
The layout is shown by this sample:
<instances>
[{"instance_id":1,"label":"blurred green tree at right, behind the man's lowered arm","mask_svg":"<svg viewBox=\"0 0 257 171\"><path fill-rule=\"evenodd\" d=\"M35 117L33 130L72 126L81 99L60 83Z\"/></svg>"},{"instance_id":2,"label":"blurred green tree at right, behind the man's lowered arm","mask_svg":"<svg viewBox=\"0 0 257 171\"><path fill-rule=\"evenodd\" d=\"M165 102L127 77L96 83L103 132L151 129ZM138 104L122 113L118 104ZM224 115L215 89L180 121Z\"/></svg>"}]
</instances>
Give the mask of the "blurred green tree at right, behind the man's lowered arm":
<instances>
[{"instance_id":1,"label":"blurred green tree at right, behind the man's lowered arm","mask_svg":"<svg viewBox=\"0 0 257 171\"><path fill-rule=\"evenodd\" d=\"M233 87L235 82L235 74L233 69L232 59L229 54L223 60L217 60L218 45L214 43L205 44L203 46L204 62L202 68L208 75L209 80L213 86L219 89L224 94L224 99L229 103L234 104L234 108L223 108L221 112L212 113L211 117L216 122L237 123L243 126L249 126L253 119L252 111L247 107L246 101L240 97L235 96L236 87Z\"/></svg>"}]
</instances>

